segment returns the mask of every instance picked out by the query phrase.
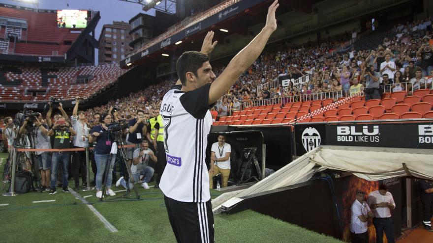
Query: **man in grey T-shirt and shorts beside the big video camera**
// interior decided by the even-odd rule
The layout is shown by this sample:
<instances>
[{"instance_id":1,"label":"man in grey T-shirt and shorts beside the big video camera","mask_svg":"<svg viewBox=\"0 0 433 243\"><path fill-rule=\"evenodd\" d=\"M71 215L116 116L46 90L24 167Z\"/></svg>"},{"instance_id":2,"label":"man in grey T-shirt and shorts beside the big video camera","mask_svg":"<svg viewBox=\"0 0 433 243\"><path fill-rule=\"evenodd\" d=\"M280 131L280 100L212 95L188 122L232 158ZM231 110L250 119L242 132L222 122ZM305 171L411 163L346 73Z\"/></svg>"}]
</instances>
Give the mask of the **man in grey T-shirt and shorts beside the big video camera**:
<instances>
[{"instance_id":1,"label":"man in grey T-shirt and shorts beside the big video camera","mask_svg":"<svg viewBox=\"0 0 433 243\"><path fill-rule=\"evenodd\" d=\"M27 133L26 127L29 123L29 117L23 122L23 126L20 128L21 133ZM48 125L43 119L42 114L38 113L38 116L34 118L33 126L36 128L36 149L51 149L50 136L48 136ZM50 176L51 176L51 152L36 151L37 162L39 163L39 170L42 181L42 191L47 191L50 188Z\"/></svg>"}]
</instances>

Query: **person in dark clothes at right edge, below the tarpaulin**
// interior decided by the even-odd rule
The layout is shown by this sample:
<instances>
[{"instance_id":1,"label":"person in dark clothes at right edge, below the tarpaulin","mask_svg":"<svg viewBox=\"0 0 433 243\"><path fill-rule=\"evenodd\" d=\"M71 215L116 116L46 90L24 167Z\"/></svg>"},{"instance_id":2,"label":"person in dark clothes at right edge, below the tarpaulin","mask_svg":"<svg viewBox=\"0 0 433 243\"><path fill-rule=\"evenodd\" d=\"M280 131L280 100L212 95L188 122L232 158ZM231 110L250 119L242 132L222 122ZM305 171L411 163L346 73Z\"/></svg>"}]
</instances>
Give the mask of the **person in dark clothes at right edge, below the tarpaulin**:
<instances>
[{"instance_id":1,"label":"person in dark clothes at right edge, below the tarpaulin","mask_svg":"<svg viewBox=\"0 0 433 243\"><path fill-rule=\"evenodd\" d=\"M433 216L433 181L421 180L419 182L421 203L423 204L423 224L424 228L432 231Z\"/></svg>"}]
</instances>

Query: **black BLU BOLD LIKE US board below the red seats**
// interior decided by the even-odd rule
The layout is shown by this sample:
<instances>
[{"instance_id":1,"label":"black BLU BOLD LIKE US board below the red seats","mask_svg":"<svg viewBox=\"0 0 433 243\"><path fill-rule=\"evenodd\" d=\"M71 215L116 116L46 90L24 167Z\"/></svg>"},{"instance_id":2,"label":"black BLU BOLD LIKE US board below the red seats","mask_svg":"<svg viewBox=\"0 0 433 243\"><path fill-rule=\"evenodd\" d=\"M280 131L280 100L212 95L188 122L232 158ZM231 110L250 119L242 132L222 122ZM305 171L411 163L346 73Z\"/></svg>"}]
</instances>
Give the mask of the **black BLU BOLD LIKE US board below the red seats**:
<instances>
[{"instance_id":1,"label":"black BLU BOLD LIKE US board below the red seats","mask_svg":"<svg viewBox=\"0 0 433 243\"><path fill-rule=\"evenodd\" d=\"M433 125L431 123L328 125L326 144L433 149Z\"/></svg>"}]
</instances>

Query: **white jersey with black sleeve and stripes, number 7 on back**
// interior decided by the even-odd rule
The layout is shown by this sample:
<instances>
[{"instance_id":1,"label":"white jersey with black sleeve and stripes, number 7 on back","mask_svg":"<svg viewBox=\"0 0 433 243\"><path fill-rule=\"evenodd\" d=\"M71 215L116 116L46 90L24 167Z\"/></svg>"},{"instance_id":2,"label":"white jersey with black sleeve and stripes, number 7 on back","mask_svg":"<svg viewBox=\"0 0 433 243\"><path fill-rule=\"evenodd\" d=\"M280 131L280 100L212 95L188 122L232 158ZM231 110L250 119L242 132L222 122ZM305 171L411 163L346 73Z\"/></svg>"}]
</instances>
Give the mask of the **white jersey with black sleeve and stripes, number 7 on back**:
<instances>
[{"instance_id":1,"label":"white jersey with black sleeve and stripes, number 7 on back","mask_svg":"<svg viewBox=\"0 0 433 243\"><path fill-rule=\"evenodd\" d=\"M193 91L173 87L162 99L167 165L159 183L164 195L181 202L210 200L206 146L212 126L209 90L206 84Z\"/></svg>"}]
</instances>

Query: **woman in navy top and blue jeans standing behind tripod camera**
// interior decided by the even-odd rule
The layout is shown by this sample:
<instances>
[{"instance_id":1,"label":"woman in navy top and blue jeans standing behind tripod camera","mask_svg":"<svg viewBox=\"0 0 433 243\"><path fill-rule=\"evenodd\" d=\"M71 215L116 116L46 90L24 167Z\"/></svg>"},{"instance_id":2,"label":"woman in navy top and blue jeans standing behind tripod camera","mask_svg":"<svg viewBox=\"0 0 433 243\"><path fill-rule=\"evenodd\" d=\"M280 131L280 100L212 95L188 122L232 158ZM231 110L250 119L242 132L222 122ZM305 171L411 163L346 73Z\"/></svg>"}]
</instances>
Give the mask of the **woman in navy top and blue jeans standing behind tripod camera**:
<instances>
[{"instance_id":1,"label":"woman in navy top and blue jeans standing behind tripod camera","mask_svg":"<svg viewBox=\"0 0 433 243\"><path fill-rule=\"evenodd\" d=\"M108 132L108 126L111 124L112 116L109 113L104 113L100 116L100 125L94 126L90 131L91 136L89 142L93 143L96 141L94 150L95 162L96 162L96 197L102 198L102 177L105 172L105 166L110 166L107 173L106 186L107 195L114 196L116 193L111 189L111 181L113 179L112 170L116 156L111 157L111 161L108 162L111 152L111 144L114 141L114 137Z\"/></svg>"}]
</instances>

